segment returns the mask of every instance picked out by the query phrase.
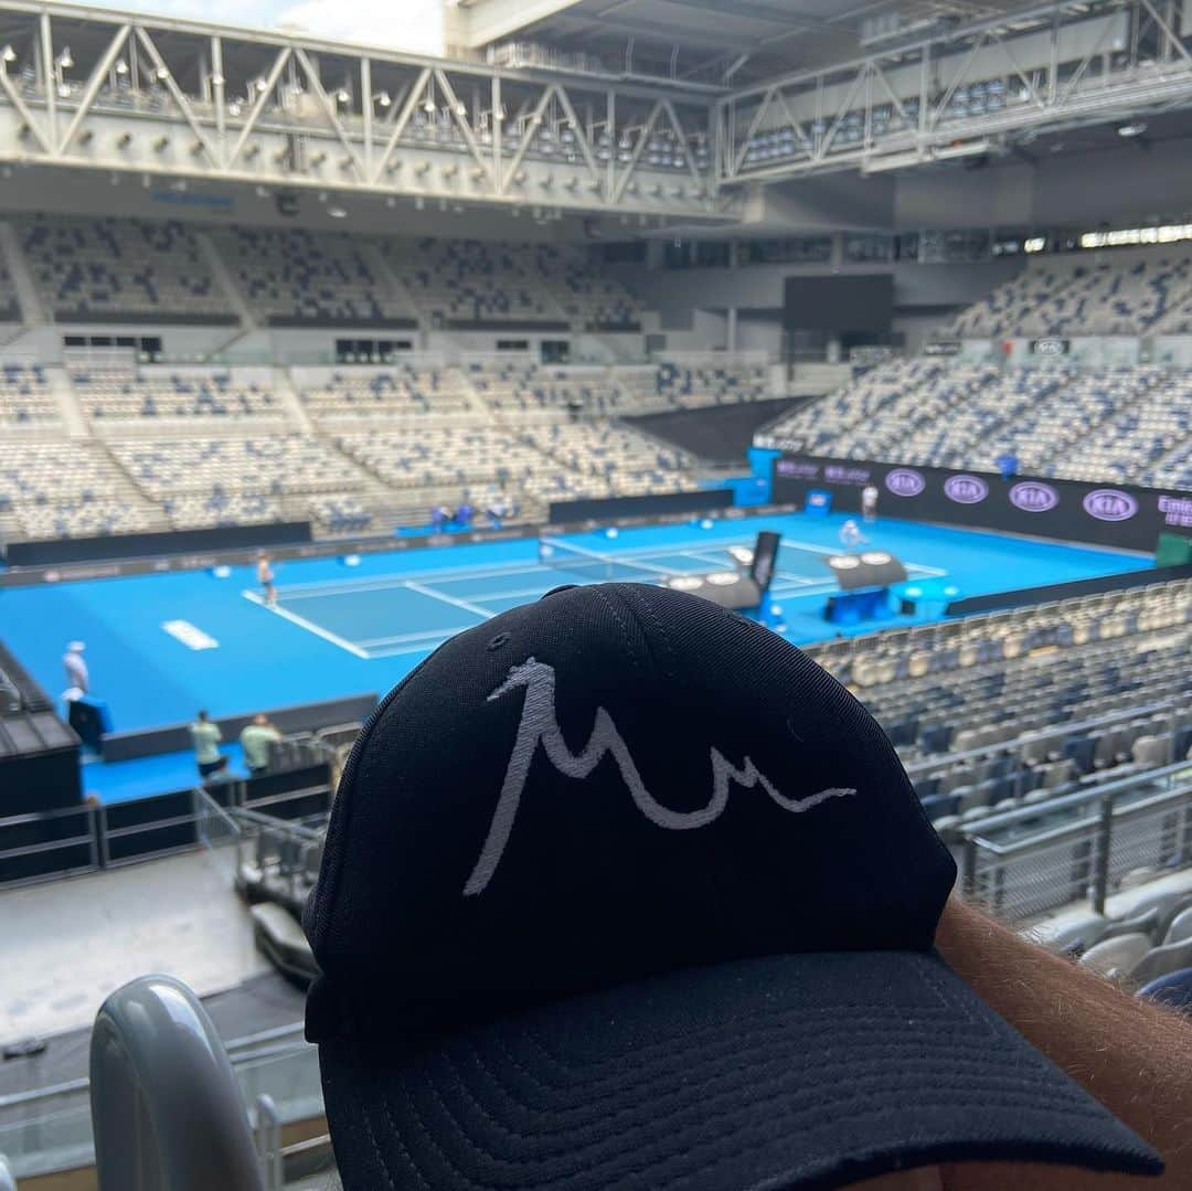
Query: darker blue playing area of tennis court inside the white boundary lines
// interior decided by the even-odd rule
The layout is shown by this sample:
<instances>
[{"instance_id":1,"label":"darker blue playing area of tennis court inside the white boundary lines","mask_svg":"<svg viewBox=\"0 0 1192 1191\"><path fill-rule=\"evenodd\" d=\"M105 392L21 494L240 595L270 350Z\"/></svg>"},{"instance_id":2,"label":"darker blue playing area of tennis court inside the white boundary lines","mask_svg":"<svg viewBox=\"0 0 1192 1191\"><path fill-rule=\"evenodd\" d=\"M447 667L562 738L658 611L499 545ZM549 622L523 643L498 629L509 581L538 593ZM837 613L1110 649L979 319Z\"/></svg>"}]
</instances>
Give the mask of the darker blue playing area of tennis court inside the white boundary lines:
<instances>
[{"instance_id":1,"label":"darker blue playing area of tennis court inside the white boundary lines","mask_svg":"<svg viewBox=\"0 0 1192 1191\"><path fill-rule=\"evenodd\" d=\"M671 529L671 535L676 531ZM628 534L626 535L628 536ZM423 653L490 616L536 600L561 583L651 583L677 575L727 571L747 564L753 536L737 526L693 527L668 545L625 547L621 538L545 538L538 562L442 567L416 577L283 583L272 610L360 658ZM783 536L771 602L822 598L836 582L822 563L834 550ZM907 560L909 578L939 577L940 567ZM242 595L263 603L261 595ZM393 632L401 626L401 632Z\"/></svg>"}]
</instances>

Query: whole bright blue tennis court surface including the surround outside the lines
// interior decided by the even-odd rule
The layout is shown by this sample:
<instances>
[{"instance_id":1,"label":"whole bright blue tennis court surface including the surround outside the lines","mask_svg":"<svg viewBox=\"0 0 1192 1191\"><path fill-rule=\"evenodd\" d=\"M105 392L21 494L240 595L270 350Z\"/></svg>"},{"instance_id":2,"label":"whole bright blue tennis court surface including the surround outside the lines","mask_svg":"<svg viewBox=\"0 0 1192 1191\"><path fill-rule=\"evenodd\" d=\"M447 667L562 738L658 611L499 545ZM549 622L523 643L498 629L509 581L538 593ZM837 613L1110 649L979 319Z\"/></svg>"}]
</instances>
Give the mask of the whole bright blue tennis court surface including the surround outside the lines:
<instances>
[{"instance_id":1,"label":"whole bright blue tennis court surface including the surround outside the lines","mask_svg":"<svg viewBox=\"0 0 1192 1191\"><path fill-rule=\"evenodd\" d=\"M128 731L190 720L199 707L231 715L384 694L453 633L560 583L727 569L731 550L774 529L782 546L771 600L788 638L812 641L837 631L822 616L834 589L822 559L838 550L842 520L788 514L622 529L615 539L571 535L560 540L560 565L544 565L535 540L396 550L355 566L283 563L277 609L262 604L248 566L226 577L187 571L6 588L0 637L51 695L64 687L66 643L86 641L93 689L116 730ZM952 597L1151 565L1134 553L912 522L883 520L867 534Z\"/></svg>"}]
</instances>

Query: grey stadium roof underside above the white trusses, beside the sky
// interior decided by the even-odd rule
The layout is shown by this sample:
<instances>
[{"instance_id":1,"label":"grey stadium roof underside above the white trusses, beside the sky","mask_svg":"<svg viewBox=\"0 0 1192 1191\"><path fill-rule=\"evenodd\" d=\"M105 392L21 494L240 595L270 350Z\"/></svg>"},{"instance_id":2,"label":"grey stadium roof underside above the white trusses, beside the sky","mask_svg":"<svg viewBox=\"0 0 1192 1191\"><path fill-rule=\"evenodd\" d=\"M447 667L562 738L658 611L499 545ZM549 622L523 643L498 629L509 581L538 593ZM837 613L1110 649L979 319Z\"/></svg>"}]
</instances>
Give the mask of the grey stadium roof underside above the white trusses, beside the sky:
<instances>
[{"instance_id":1,"label":"grey stadium roof underside above the white trusses, beside the sky","mask_svg":"<svg viewBox=\"0 0 1192 1191\"><path fill-rule=\"evenodd\" d=\"M459 27L473 49L532 42L623 73L734 87L1023 7L1023 0L458 0Z\"/></svg>"}]
</instances>

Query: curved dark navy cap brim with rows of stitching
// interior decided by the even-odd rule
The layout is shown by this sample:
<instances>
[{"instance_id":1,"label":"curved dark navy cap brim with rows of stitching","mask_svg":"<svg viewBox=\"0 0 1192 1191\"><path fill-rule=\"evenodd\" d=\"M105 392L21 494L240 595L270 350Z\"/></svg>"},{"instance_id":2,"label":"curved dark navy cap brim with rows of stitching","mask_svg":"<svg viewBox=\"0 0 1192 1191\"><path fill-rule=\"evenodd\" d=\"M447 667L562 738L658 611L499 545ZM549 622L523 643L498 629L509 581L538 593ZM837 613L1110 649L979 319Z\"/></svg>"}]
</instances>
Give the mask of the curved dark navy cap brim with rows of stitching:
<instances>
[{"instance_id":1,"label":"curved dark navy cap brim with rows of stitching","mask_svg":"<svg viewBox=\"0 0 1192 1191\"><path fill-rule=\"evenodd\" d=\"M379 1007L368 1018L319 1047L348 1191L781 1191L966 1160L1162 1170L933 955L691 969L415 1048L386 1038Z\"/></svg>"}]
</instances>

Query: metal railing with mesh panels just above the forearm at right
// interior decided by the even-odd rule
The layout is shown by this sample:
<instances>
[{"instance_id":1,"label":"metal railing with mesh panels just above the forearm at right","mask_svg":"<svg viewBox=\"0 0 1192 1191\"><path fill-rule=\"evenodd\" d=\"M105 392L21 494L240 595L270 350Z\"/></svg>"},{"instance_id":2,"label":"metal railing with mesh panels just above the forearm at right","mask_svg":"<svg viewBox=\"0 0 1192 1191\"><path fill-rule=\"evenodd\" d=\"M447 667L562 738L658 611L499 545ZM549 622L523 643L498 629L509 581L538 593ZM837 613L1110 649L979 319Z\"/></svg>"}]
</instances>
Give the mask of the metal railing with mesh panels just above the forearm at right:
<instances>
[{"instance_id":1,"label":"metal railing with mesh panels just above the forearm at right","mask_svg":"<svg viewBox=\"0 0 1192 1191\"><path fill-rule=\"evenodd\" d=\"M958 836L962 888L999 918L1082 899L1104 913L1128 875L1192 863L1192 763L961 824Z\"/></svg>"}]
</instances>

